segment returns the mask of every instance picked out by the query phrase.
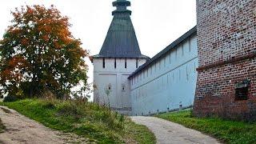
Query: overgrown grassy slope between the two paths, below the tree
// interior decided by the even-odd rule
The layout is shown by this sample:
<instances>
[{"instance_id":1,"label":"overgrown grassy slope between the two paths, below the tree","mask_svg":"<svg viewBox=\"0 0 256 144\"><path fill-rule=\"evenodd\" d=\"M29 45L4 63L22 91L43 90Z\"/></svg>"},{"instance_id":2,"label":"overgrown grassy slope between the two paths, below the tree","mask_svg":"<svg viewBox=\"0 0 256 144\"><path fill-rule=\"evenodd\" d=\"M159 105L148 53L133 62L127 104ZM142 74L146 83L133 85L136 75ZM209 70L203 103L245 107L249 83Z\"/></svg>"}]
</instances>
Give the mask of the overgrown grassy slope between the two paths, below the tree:
<instances>
[{"instance_id":1,"label":"overgrown grassy slope between the two paths, below the tree","mask_svg":"<svg viewBox=\"0 0 256 144\"><path fill-rule=\"evenodd\" d=\"M122 116L88 102L26 99L0 103L17 110L54 130L75 133L97 143L122 143L133 139L155 143L154 134L146 128L122 121Z\"/></svg>"}]
</instances>

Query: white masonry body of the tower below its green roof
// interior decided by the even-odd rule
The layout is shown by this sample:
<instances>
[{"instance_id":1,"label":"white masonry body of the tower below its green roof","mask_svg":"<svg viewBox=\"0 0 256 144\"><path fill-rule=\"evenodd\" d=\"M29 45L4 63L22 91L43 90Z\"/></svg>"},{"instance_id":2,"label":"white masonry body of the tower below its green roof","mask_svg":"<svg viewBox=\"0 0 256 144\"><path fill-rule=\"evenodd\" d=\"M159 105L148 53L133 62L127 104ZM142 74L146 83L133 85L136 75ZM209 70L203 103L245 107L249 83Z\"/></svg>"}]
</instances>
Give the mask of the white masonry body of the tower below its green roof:
<instances>
[{"instance_id":1,"label":"white masonry body of the tower below its green roof","mask_svg":"<svg viewBox=\"0 0 256 144\"><path fill-rule=\"evenodd\" d=\"M127 67L125 68L125 62ZM146 59L138 59L138 66L142 66ZM121 114L131 114L130 83L127 79L136 68L136 58L94 58L94 102L108 105ZM108 94L109 93L109 94Z\"/></svg>"}]
</instances>

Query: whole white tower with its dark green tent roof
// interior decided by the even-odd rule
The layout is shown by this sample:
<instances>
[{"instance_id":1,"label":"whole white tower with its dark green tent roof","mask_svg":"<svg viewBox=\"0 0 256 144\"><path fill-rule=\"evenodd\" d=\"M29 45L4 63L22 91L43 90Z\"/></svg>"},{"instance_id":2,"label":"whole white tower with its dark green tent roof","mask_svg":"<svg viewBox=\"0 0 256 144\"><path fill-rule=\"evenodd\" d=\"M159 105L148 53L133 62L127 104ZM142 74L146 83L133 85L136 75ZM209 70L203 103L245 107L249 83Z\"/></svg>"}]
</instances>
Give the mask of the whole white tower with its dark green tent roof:
<instances>
[{"instance_id":1,"label":"whole white tower with its dark green tent roof","mask_svg":"<svg viewBox=\"0 0 256 144\"><path fill-rule=\"evenodd\" d=\"M142 55L131 11L130 2L113 2L117 10L106 34L102 50L92 57L94 64L94 102L108 106L122 114L131 114L130 83L128 77L149 59Z\"/></svg>"}]
</instances>

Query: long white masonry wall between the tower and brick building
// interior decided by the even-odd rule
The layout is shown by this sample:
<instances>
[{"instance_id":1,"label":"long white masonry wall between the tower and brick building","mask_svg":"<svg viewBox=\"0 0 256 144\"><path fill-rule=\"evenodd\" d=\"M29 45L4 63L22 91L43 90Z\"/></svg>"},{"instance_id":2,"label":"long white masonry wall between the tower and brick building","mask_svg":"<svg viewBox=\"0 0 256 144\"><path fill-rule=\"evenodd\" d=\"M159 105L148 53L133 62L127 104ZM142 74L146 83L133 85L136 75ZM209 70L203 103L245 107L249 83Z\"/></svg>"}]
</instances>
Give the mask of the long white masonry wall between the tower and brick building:
<instances>
[{"instance_id":1,"label":"long white masonry wall between the tower and brick building","mask_svg":"<svg viewBox=\"0 0 256 144\"><path fill-rule=\"evenodd\" d=\"M130 79L133 115L193 105L197 67L198 46L194 34Z\"/></svg>"}]
</instances>

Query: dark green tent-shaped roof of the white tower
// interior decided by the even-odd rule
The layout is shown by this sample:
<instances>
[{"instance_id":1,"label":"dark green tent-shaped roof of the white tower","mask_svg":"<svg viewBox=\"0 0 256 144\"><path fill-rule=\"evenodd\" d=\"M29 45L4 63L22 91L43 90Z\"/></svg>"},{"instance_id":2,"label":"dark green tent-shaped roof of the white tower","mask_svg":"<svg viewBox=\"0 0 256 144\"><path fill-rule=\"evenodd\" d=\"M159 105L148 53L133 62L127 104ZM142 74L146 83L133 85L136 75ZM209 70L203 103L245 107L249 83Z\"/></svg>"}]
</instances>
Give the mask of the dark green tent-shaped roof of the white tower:
<instances>
[{"instance_id":1,"label":"dark green tent-shaped roof of the white tower","mask_svg":"<svg viewBox=\"0 0 256 144\"><path fill-rule=\"evenodd\" d=\"M131 11L126 9L130 2L118 0L113 2L117 7L112 14L114 18L106 34L102 50L94 58L149 58L141 54L134 26L130 19Z\"/></svg>"}]
</instances>

